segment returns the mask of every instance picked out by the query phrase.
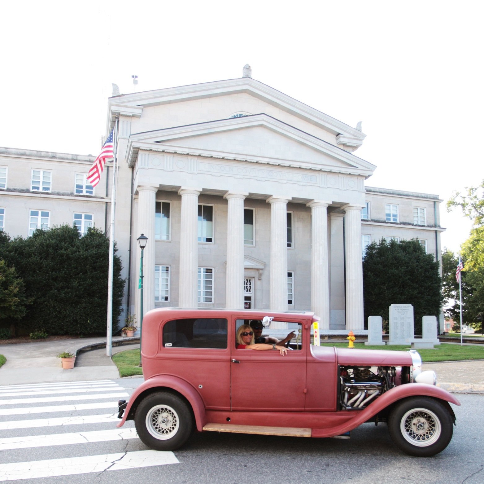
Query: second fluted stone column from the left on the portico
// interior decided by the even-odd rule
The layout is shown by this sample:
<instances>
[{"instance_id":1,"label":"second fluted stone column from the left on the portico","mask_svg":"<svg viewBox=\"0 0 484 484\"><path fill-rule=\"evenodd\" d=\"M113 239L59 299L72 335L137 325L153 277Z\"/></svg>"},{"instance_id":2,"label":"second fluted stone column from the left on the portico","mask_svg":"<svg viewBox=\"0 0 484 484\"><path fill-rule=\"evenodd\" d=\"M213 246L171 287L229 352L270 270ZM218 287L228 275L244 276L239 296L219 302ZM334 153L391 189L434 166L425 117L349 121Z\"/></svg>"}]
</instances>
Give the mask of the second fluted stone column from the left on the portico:
<instances>
[{"instance_id":1,"label":"second fluted stone column from the left on the portico","mask_svg":"<svg viewBox=\"0 0 484 484\"><path fill-rule=\"evenodd\" d=\"M178 306L196 308L198 277L198 195L200 189L184 188L178 190L181 195L180 223L180 283Z\"/></svg>"}]
</instances>

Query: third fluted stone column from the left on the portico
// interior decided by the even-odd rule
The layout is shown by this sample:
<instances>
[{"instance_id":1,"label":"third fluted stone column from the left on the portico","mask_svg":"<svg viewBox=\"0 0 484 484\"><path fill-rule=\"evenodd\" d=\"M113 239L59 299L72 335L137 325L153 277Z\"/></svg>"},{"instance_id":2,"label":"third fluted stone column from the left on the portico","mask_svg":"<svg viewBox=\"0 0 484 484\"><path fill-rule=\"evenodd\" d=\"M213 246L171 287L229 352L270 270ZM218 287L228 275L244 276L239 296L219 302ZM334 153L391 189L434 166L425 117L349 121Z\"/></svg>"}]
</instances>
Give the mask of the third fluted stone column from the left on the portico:
<instances>
[{"instance_id":1,"label":"third fluted stone column from the left on the portico","mask_svg":"<svg viewBox=\"0 0 484 484\"><path fill-rule=\"evenodd\" d=\"M227 273L225 307L243 309L243 201L248 193L227 192Z\"/></svg>"}]
</instances>

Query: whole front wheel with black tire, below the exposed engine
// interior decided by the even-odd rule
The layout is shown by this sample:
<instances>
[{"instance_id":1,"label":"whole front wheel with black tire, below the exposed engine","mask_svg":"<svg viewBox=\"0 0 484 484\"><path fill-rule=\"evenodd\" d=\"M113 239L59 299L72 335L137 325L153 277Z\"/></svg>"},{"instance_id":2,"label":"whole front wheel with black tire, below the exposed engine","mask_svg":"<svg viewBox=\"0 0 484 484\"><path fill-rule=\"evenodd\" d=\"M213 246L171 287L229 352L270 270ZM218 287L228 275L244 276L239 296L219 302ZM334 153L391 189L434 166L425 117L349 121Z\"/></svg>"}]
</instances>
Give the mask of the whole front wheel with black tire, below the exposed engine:
<instances>
[{"instance_id":1,"label":"whole front wheel with black tire, below the exposed engine","mask_svg":"<svg viewBox=\"0 0 484 484\"><path fill-rule=\"evenodd\" d=\"M393 407L388 430L403 452L431 457L447 447L454 428L448 409L439 400L411 397Z\"/></svg>"}]
</instances>

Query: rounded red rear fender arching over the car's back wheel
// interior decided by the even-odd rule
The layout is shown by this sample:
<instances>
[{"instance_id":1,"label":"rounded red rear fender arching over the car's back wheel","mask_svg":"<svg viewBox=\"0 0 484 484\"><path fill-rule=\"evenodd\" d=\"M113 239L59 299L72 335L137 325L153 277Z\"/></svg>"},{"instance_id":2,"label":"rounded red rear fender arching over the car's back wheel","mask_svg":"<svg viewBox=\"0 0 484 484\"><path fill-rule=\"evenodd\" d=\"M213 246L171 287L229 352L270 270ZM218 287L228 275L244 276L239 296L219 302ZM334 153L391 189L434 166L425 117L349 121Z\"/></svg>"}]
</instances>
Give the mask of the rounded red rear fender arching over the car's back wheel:
<instances>
[{"instance_id":1,"label":"rounded red rear fender arching over the car's back wheel","mask_svg":"<svg viewBox=\"0 0 484 484\"><path fill-rule=\"evenodd\" d=\"M189 383L181 378L171 375L156 375L145 380L131 395L126 408L124 410L121 422L116 426L121 427L130 414L131 408L136 408L139 401L142 400L145 393L152 389L167 389L174 390L184 396L190 406L192 407L193 414L195 416L195 422L197 424L197 430L202 431L203 426L207 423L207 417L205 414L205 406L203 404L200 394ZM131 420L131 419L130 419Z\"/></svg>"}]
</instances>

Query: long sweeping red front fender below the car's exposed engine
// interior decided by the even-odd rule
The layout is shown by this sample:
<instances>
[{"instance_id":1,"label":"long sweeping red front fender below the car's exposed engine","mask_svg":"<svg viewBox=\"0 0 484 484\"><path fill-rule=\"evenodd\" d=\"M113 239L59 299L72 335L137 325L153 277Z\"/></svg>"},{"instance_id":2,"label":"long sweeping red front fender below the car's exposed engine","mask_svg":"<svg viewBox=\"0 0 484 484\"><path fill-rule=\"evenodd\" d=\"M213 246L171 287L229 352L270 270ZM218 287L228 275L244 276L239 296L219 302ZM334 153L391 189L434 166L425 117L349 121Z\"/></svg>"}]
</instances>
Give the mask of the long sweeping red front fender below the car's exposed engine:
<instances>
[{"instance_id":1,"label":"long sweeping red front fender below the car's exposed engine","mask_svg":"<svg viewBox=\"0 0 484 484\"><path fill-rule=\"evenodd\" d=\"M433 397L460 406L460 402L447 390L434 387L433 385L426 385L425 383L407 383L386 391L383 393L383 395L379 396L375 402L367 406L361 412L358 411L354 418L348 420L347 422L331 428L312 429L311 436L334 437L337 435L342 435L350 430L353 430L367 420L370 420L372 417L377 415L377 413L381 412L393 403L412 396ZM343 412L344 411L345 410L343 410ZM354 412L354 410L348 410L348 412Z\"/></svg>"}]
</instances>

